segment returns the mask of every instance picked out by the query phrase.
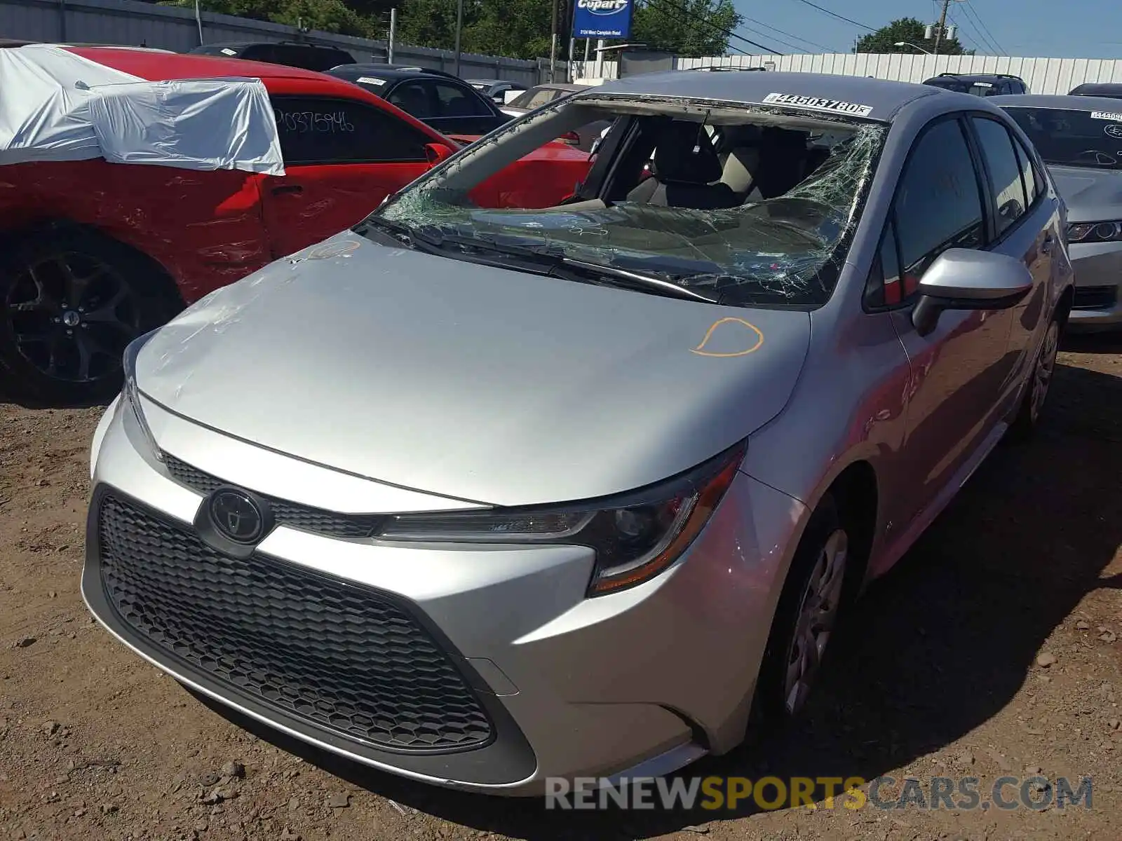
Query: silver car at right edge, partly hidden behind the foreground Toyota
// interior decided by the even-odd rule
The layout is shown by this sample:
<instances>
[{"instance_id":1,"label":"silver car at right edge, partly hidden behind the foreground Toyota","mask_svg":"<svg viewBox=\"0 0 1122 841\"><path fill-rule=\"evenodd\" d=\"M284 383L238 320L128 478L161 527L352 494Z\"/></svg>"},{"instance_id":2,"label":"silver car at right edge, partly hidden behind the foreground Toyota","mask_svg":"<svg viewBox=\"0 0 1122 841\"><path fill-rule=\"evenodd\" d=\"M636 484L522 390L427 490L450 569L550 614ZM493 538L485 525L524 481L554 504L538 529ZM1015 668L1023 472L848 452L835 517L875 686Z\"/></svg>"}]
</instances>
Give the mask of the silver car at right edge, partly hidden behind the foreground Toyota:
<instances>
[{"instance_id":1,"label":"silver car at right edge, partly hidden behind the foreground Toyota","mask_svg":"<svg viewBox=\"0 0 1122 841\"><path fill-rule=\"evenodd\" d=\"M1067 205L1075 266L1069 327L1122 327L1122 102L996 96L1036 145Z\"/></svg>"}]
</instances>

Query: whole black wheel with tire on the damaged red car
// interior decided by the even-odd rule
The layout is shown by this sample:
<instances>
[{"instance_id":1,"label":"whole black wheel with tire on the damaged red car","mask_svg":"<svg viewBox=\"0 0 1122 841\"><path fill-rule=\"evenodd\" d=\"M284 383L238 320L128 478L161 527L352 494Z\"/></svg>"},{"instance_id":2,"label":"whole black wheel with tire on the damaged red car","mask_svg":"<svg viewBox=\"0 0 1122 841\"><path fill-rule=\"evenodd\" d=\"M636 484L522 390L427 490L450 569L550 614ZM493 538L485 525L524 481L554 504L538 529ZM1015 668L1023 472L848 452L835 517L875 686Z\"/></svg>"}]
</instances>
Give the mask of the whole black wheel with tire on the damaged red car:
<instances>
[{"instance_id":1,"label":"whole black wheel with tire on the damaged red car","mask_svg":"<svg viewBox=\"0 0 1122 841\"><path fill-rule=\"evenodd\" d=\"M121 388L125 346L182 306L157 264L96 231L37 231L2 250L4 390L35 404L109 399Z\"/></svg>"}]
</instances>

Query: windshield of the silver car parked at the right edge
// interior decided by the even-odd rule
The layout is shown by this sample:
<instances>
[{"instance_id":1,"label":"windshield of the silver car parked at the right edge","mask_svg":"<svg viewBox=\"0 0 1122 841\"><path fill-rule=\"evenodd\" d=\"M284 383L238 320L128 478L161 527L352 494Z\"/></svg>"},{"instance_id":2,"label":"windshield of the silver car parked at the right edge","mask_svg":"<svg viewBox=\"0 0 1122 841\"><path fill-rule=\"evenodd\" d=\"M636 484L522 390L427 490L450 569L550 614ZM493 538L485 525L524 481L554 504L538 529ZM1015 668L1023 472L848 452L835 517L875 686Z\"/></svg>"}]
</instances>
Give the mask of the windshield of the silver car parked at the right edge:
<instances>
[{"instance_id":1,"label":"windshield of the silver car parked at the right edge","mask_svg":"<svg viewBox=\"0 0 1122 841\"><path fill-rule=\"evenodd\" d=\"M1122 104L1116 111L1006 108L1047 164L1122 169Z\"/></svg>"}]
</instances>

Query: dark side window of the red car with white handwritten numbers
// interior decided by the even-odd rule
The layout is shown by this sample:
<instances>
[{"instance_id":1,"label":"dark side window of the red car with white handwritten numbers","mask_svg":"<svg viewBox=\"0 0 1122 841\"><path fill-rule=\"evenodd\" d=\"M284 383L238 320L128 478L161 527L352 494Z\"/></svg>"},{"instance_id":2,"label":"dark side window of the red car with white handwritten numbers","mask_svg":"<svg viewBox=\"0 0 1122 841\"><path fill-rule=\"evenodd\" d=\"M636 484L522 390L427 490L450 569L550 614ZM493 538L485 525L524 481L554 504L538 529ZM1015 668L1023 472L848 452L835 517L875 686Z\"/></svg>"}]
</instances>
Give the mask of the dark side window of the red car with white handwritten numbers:
<instances>
[{"instance_id":1,"label":"dark side window of the red car with white handwritten numbers","mask_svg":"<svg viewBox=\"0 0 1122 841\"><path fill-rule=\"evenodd\" d=\"M274 96L287 166L423 161L429 138L393 114L356 100Z\"/></svg>"}]
</instances>

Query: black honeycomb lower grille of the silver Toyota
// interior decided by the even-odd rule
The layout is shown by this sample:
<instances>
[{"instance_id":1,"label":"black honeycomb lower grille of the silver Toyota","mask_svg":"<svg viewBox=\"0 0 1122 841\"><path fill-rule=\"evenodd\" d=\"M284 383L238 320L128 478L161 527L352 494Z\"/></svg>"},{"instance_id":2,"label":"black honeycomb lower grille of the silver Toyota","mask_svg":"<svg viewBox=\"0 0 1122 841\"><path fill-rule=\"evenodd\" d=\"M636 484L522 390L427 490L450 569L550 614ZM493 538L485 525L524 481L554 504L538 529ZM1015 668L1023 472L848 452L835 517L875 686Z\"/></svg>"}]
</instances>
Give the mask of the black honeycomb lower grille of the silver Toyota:
<instances>
[{"instance_id":1,"label":"black honeycomb lower grille of the silver Toyota","mask_svg":"<svg viewBox=\"0 0 1122 841\"><path fill-rule=\"evenodd\" d=\"M280 561L227 557L111 495L98 533L120 618L215 681L380 748L490 741L490 720L450 657L377 593Z\"/></svg>"}]
</instances>

